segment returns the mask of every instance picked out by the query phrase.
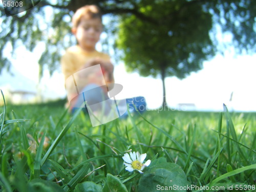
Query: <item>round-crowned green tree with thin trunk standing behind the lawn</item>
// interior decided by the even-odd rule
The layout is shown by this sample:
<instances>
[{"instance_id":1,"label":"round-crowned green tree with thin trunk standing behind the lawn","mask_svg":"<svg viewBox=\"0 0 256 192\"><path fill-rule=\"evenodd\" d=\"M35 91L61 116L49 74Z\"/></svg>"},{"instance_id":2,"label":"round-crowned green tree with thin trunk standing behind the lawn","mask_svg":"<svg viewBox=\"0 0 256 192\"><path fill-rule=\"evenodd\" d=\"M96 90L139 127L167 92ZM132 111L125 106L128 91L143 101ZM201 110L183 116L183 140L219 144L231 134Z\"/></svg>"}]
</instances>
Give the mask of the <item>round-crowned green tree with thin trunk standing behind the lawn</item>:
<instances>
[{"instance_id":1,"label":"round-crowned green tree with thin trunk standing behind the lawn","mask_svg":"<svg viewBox=\"0 0 256 192\"><path fill-rule=\"evenodd\" d=\"M135 15L123 16L120 22L117 46L124 50L122 58L127 69L143 76L161 75L163 107L166 105L165 77L184 78L191 71L200 70L202 62L215 55L209 36L211 14L203 11L199 4L185 6L180 11L177 7L184 3L186 1L178 1L175 7L165 2L139 5L154 22L144 22Z\"/></svg>"}]
</instances>

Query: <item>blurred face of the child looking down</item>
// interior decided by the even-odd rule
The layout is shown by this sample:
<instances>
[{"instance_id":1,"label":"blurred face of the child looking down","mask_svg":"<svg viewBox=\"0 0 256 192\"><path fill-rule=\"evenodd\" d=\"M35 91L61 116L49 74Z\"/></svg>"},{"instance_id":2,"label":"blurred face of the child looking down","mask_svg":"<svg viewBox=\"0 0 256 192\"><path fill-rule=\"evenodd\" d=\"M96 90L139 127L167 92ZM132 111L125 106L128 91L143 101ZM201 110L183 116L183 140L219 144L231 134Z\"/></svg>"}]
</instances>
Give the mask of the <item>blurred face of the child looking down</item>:
<instances>
[{"instance_id":1,"label":"blurred face of the child looking down","mask_svg":"<svg viewBox=\"0 0 256 192\"><path fill-rule=\"evenodd\" d=\"M94 51L102 31L100 18L84 19L73 29L78 45L87 51Z\"/></svg>"}]
</instances>

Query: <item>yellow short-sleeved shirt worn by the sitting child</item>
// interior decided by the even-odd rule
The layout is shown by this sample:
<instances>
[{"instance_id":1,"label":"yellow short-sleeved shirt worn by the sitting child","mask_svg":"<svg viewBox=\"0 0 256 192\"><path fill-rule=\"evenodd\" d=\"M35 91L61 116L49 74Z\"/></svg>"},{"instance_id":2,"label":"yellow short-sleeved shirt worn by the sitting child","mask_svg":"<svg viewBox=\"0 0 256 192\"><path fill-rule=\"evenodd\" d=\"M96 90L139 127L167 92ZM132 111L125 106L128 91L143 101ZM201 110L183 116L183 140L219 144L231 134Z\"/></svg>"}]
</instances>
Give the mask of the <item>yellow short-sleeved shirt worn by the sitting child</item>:
<instances>
[{"instance_id":1,"label":"yellow short-sleeved shirt worn by the sitting child","mask_svg":"<svg viewBox=\"0 0 256 192\"><path fill-rule=\"evenodd\" d=\"M91 59L93 58L100 58L104 61L110 62L110 56L105 53L101 53L98 51L93 52L86 52L82 50L79 46L73 46L66 50L66 53L61 57L61 69L62 73L65 76L65 81L74 73L80 71L82 67ZM100 63L99 63L100 64ZM66 81L66 90L68 94L68 99L71 101L73 98L73 102L75 102L75 97L77 96L77 90L76 87L74 87L74 84L69 84ZM114 79L113 79L114 82ZM113 82L106 82L113 83ZM84 79L79 79L77 82L77 85L80 84L81 86L86 86L86 83L84 83ZM71 108L72 108L72 103Z\"/></svg>"}]
</instances>

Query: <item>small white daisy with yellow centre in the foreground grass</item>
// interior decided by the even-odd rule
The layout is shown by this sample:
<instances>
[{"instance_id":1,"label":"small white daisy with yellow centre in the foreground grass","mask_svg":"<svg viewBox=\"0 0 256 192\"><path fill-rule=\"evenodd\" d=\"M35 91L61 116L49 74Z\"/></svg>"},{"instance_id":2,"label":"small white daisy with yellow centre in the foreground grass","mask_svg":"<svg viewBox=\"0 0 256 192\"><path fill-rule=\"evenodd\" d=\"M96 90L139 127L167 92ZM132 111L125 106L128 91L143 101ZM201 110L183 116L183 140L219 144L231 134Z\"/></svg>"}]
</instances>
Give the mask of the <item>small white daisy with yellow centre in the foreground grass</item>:
<instances>
[{"instance_id":1,"label":"small white daisy with yellow centre in the foreground grass","mask_svg":"<svg viewBox=\"0 0 256 192\"><path fill-rule=\"evenodd\" d=\"M128 153L125 153L122 158L125 161L123 163L126 166L125 169L129 172L132 172L133 170L138 170L138 172L142 174L142 170L151 163L151 160L147 160L143 164L143 161L146 158L145 153L141 155L139 152L130 152L130 155Z\"/></svg>"}]
</instances>

